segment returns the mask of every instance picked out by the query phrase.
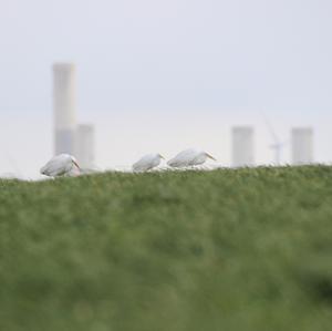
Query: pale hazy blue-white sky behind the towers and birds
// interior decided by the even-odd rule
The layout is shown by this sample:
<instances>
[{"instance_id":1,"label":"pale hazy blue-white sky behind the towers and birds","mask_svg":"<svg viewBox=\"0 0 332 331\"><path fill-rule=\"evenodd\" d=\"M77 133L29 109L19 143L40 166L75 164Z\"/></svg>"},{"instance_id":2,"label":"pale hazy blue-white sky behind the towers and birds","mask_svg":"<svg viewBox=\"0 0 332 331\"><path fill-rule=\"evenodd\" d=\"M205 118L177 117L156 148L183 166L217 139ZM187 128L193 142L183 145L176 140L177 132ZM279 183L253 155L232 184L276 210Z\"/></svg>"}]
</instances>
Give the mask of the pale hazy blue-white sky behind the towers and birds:
<instances>
[{"instance_id":1,"label":"pale hazy blue-white sky behind the towers and birds","mask_svg":"<svg viewBox=\"0 0 332 331\"><path fill-rule=\"evenodd\" d=\"M227 166L237 124L271 163L261 113L282 139L313 126L329 163L331 34L331 0L0 0L0 174L34 178L52 156L56 61L76 63L101 168L186 147Z\"/></svg>"}]
</instances>

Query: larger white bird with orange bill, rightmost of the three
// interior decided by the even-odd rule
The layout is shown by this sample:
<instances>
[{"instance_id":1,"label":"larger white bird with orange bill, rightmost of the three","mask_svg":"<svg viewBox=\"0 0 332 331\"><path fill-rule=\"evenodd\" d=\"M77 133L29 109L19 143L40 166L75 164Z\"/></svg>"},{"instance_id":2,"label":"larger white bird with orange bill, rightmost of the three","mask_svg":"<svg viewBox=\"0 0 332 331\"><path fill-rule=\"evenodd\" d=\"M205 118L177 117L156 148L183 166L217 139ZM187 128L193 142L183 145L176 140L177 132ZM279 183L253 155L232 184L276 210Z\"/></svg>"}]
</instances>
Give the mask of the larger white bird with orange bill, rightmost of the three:
<instances>
[{"instance_id":1,"label":"larger white bird with orange bill, rightmost of the three","mask_svg":"<svg viewBox=\"0 0 332 331\"><path fill-rule=\"evenodd\" d=\"M177 154L174 158L169 159L167 164L170 167L181 168L201 165L207 161L207 158L216 161L215 157L204 151L186 149Z\"/></svg>"}]
</instances>

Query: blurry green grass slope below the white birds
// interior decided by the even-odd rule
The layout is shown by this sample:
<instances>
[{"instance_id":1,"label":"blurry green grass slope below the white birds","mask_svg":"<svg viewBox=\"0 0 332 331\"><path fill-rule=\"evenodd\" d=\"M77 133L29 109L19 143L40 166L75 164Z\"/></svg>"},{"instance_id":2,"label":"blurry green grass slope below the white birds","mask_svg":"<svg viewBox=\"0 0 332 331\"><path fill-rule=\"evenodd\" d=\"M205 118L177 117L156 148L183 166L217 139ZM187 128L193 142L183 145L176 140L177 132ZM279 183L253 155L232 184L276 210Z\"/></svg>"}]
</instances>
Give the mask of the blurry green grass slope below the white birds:
<instances>
[{"instance_id":1,"label":"blurry green grass slope below the white birds","mask_svg":"<svg viewBox=\"0 0 332 331\"><path fill-rule=\"evenodd\" d=\"M331 325L331 167L0 180L0 330Z\"/></svg>"}]
</instances>

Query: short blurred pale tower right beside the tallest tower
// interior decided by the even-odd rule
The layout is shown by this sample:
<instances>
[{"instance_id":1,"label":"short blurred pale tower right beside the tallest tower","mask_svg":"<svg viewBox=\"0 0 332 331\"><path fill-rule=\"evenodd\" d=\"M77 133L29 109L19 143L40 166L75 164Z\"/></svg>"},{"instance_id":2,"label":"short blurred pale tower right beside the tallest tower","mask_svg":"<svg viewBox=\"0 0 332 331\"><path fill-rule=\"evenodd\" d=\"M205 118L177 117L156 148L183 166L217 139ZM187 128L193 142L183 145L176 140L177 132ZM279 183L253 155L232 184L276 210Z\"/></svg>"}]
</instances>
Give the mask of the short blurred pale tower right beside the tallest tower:
<instances>
[{"instance_id":1,"label":"short blurred pale tower right beside the tallest tower","mask_svg":"<svg viewBox=\"0 0 332 331\"><path fill-rule=\"evenodd\" d=\"M76 133L76 158L82 168L91 169L94 166L94 127L82 124Z\"/></svg>"}]
</instances>

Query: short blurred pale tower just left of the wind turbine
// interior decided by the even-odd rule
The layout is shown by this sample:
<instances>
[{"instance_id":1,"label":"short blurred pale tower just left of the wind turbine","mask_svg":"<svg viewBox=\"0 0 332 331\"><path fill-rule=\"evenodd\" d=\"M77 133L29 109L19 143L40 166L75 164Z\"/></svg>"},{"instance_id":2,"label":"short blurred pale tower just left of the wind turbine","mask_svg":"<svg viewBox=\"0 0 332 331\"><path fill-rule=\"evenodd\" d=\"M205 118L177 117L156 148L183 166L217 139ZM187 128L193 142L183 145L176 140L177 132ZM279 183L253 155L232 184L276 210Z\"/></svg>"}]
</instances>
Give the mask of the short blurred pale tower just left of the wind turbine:
<instances>
[{"instance_id":1,"label":"short blurred pale tower just left of the wind turbine","mask_svg":"<svg viewBox=\"0 0 332 331\"><path fill-rule=\"evenodd\" d=\"M255 164L255 131L251 126L232 128L232 166L252 166Z\"/></svg>"}]
</instances>

